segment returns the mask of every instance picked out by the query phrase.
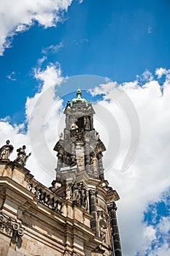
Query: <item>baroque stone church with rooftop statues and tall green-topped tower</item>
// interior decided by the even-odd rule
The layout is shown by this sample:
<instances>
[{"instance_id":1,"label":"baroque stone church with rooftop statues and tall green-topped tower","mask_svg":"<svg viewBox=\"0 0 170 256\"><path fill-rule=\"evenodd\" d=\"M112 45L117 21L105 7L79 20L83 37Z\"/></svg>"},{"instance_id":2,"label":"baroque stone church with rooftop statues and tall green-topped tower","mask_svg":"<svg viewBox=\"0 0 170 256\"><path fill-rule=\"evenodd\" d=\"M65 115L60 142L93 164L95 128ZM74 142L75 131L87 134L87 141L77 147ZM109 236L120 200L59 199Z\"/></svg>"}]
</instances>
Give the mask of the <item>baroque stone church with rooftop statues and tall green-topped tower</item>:
<instances>
[{"instance_id":1,"label":"baroque stone church with rooftop statues and tall green-topped tower","mask_svg":"<svg viewBox=\"0 0 170 256\"><path fill-rule=\"evenodd\" d=\"M106 148L93 127L93 106L78 89L64 114L51 187L26 169L25 146L15 161L9 140L0 148L0 256L122 255L119 195L104 179Z\"/></svg>"}]
</instances>

